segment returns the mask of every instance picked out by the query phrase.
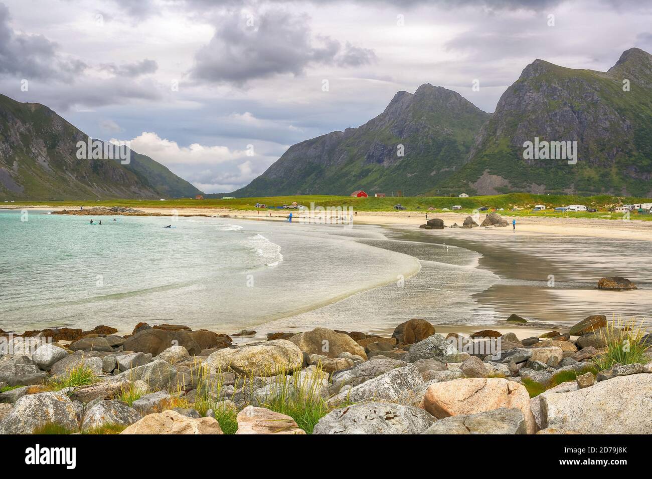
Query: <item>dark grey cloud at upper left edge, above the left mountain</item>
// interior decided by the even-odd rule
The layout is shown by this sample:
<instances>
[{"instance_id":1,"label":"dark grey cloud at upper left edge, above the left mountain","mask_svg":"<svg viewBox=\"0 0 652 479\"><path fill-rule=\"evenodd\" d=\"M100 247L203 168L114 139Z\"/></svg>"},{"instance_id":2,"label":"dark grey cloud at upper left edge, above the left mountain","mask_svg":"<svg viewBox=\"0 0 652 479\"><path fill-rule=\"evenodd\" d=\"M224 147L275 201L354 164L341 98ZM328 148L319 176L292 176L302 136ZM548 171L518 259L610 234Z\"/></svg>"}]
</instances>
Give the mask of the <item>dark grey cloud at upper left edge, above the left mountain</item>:
<instances>
[{"instance_id":1,"label":"dark grey cloud at upper left edge, above the left mountain","mask_svg":"<svg viewBox=\"0 0 652 479\"><path fill-rule=\"evenodd\" d=\"M0 3L0 74L53 80L70 80L87 67L80 60L57 54L57 44L42 35L15 33L9 10Z\"/></svg>"}]
</instances>

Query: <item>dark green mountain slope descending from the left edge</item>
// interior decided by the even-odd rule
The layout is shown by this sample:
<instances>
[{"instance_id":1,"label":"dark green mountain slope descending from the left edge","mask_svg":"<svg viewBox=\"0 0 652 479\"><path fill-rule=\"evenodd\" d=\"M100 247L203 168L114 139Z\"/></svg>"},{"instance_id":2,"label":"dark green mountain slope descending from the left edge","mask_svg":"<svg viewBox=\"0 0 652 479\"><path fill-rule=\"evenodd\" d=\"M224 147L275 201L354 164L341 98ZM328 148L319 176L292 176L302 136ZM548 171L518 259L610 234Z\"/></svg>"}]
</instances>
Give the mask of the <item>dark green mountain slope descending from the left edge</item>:
<instances>
[{"instance_id":1,"label":"dark green mountain slope descending from the left edge","mask_svg":"<svg viewBox=\"0 0 652 479\"><path fill-rule=\"evenodd\" d=\"M200 190L148 156L78 159L87 135L46 106L0 94L0 200L188 197Z\"/></svg>"}]
</instances>

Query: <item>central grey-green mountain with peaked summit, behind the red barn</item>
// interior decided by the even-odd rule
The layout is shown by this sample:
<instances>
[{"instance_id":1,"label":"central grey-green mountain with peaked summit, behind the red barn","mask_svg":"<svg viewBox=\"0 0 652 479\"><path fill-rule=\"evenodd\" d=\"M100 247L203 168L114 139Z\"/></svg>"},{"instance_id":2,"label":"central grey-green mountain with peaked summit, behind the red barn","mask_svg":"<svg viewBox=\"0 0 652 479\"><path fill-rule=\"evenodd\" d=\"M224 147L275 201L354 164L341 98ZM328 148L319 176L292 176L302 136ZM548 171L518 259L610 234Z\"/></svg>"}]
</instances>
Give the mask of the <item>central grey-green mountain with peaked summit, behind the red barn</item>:
<instances>
[{"instance_id":1,"label":"central grey-green mountain with peaked summit, behind the red barn","mask_svg":"<svg viewBox=\"0 0 652 479\"><path fill-rule=\"evenodd\" d=\"M359 128L293 145L230 196L422 194L464 164L489 117L460 94L426 83L414 94L396 93L383 113Z\"/></svg>"}]
</instances>

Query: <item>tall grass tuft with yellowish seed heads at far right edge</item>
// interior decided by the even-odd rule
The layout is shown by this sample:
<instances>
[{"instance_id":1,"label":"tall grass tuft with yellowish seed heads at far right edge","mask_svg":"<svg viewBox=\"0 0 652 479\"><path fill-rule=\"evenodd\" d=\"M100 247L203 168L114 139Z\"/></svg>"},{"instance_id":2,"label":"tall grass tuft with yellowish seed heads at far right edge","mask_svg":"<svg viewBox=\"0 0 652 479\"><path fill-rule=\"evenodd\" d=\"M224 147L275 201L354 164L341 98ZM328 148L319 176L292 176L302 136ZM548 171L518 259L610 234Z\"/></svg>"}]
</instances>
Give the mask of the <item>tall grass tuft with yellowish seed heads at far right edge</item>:
<instances>
[{"instance_id":1,"label":"tall grass tuft with yellowish seed heads at far right edge","mask_svg":"<svg viewBox=\"0 0 652 479\"><path fill-rule=\"evenodd\" d=\"M649 346L642 341L645 336L642 326L642 323L636 325L633 320L623 322L619 318L600 328L600 338L606 344L606 351L591 358L591 362L600 371L609 370L614 364L645 364Z\"/></svg>"}]
</instances>

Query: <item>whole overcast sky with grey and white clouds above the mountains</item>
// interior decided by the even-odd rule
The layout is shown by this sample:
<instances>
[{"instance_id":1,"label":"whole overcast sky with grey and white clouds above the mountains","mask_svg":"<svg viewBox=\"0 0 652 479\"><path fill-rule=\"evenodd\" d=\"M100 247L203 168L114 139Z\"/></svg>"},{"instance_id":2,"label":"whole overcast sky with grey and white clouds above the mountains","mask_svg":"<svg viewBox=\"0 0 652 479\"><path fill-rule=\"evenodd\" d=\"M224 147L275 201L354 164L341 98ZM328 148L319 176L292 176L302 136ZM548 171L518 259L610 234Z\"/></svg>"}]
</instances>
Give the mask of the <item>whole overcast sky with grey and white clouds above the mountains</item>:
<instances>
[{"instance_id":1,"label":"whole overcast sky with grey and white clouds above the mountains","mask_svg":"<svg viewBox=\"0 0 652 479\"><path fill-rule=\"evenodd\" d=\"M494 111L536 58L607 70L632 46L651 1L0 0L0 93L230 192L397 91Z\"/></svg>"}]
</instances>

